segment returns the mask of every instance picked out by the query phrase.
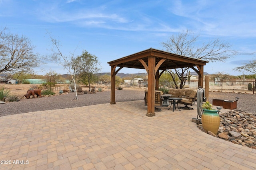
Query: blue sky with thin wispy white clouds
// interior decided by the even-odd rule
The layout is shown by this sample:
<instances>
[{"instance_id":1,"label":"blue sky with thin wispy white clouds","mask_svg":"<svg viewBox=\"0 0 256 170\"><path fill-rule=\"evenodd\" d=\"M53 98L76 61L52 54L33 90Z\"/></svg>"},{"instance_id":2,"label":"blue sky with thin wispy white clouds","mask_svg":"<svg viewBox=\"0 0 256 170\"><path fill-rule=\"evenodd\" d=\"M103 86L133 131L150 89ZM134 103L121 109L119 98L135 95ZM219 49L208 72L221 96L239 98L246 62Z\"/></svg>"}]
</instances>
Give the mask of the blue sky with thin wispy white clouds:
<instances>
[{"instance_id":1,"label":"blue sky with thin wispy white clouds","mask_svg":"<svg viewBox=\"0 0 256 170\"><path fill-rule=\"evenodd\" d=\"M83 50L98 57L101 72L110 72L108 61L149 49L164 49L167 41L186 29L200 34L201 42L220 38L239 55L225 63L208 63L204 71L241 75L232 70L256 59L256 1L245 0L0 0L0 27L24 35L35 52L49 55L49 35L62 42L62 53ZM254 54L252 54L254 53ZM54 63L42 65L66 74ZM122 68L123 73L146 72Z\"/></svg>"}]
</instances>

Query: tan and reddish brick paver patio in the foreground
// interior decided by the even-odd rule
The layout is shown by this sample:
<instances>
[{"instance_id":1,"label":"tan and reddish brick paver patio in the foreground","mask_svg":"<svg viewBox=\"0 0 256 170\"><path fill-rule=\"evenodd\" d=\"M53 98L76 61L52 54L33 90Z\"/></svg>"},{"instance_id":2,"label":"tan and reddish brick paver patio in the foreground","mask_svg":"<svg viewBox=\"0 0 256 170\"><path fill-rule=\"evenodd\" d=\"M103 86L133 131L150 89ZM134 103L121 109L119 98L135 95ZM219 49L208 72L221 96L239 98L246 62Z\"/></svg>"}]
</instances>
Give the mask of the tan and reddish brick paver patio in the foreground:
<instances>
[{"instance_id":1,"label":"tan and reddish brick paver patio in the foreground","mask_svg":"<svg viewBox=\"0 0 256 170\"><path fill-rule=\"evenodd\" d=\"M0 169L256 168L256 150L200 131L196 109L146 112L132 101L0 117Z\"/></svg>"}]
</instances>

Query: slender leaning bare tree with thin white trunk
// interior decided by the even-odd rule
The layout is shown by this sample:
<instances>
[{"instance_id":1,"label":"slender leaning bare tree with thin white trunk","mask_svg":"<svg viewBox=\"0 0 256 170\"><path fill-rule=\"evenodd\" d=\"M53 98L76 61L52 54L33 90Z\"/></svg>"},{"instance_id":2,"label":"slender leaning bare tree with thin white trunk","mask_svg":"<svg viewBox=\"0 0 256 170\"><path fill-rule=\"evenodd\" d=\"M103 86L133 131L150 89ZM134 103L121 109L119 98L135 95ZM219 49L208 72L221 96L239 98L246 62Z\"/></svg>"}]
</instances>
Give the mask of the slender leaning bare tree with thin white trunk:
<instances>
[{"instance_id":1,"label":"slender leaning bare tree with thin white trunk","mask_svg":"<svg viewBox=\"0 0 256 170\"><path fill-rule=\"evenodd\" d=\"M50 33L48 33L50 35ZM78 97L77 97L77 92L76 92L76 80L75 80L75 76L76 76L76 67L72 67L72 64L74 62L74 53L77 49L73 51L73 53L70 53L70 55L66 56L66 55L63 55L61 50L60 50L60 40L58 39L55 39L54 37L52 37L52 35L50 35L50 39L52 41L52 45L54 46L53 49L52 49L52 56L51 56L51 59L53 61L55 61L56 63L62 65L66 70L68 70L68 72L70 73L71 77L72 77L72 80L74 81L74 88L75 88L75 98L76 100L78 100Z\"/></svg>"}]
</instances>

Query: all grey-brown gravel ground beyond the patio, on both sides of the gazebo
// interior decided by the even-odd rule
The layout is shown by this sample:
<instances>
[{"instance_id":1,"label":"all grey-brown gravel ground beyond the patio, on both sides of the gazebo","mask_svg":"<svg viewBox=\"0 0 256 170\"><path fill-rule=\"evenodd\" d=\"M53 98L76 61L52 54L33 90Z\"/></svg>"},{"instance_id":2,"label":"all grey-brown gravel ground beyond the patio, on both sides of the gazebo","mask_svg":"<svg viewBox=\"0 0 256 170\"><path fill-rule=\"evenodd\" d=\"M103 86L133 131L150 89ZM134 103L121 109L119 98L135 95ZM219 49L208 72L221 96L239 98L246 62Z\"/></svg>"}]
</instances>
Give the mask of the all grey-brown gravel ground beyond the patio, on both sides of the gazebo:
<instances>
[{"instance_id":1,"label":"all grey-brown gravel ground beyond the patio, on both sides of the gazebo","mask_svg":"<svg viewBox=\"0 0 256 170\"><path fill-rule=\"evenodd\" d=\"M145 94L143 89L116 90L116 102L144 100L144 96ZM237 109L256 113L256 94L210 92L209 96L210 103L212 103L212 99L235 100L236 97L238 97ZM78 95L78 100L74 100L74 97L74 93L69 93L36 99L30 98L28 100L22 98L19 102L7 102L6 104L0 104L0 116L110 103L110 91Z\"/></svg>"}]
</instances>

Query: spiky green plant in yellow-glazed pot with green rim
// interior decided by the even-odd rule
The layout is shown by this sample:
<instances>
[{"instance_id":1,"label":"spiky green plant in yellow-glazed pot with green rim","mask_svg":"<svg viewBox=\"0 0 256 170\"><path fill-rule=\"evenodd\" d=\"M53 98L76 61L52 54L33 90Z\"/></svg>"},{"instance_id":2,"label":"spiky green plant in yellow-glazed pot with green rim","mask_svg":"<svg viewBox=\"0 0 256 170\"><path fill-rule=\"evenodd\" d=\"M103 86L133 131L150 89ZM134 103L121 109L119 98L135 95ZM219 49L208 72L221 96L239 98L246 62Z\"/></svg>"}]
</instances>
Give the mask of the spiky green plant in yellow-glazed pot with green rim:
<instances>
[{"instance_id":1,"label":"spiky green plant in yellow-glazed pot with green rim","mask_svg":"<svg viewBox=\"0 0 256 170\"><path fill-rule=\"evenodd\" d=\"M206 101L202 104L203 114L202 114L202 126L203 129L211 131L215 135L218 133L220 127L220 116L218 115L218 110L212 109L212 104Z\"/></svg>"}]
</instances>

